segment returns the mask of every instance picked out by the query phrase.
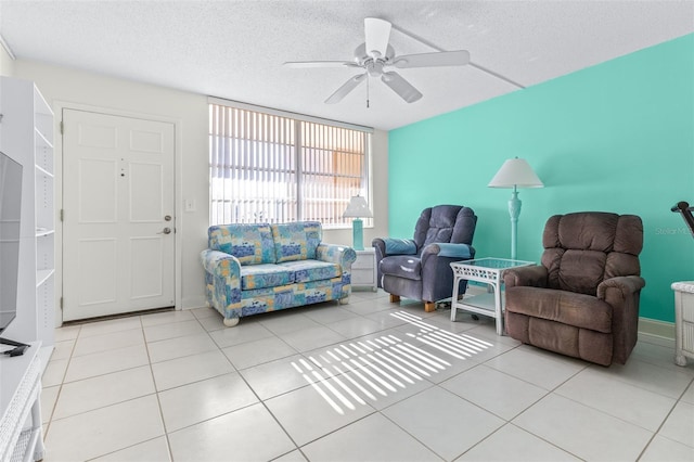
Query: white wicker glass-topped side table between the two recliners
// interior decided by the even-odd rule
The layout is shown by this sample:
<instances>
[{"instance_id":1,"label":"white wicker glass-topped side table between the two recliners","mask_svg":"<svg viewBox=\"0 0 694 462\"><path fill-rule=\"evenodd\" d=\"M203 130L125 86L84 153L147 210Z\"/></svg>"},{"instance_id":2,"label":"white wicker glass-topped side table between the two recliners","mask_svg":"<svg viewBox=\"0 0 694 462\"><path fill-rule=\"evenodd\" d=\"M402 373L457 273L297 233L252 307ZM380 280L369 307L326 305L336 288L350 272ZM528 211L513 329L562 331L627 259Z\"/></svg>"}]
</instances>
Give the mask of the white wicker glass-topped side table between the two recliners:
<instances>
[{"instance_id":1,"label":"white wicker glass-topped side table between the two recliners","mask_svg":"<svg viewBox=\"0 0 694 462\"><path fill-rule=\"evenodd\" d=\"M503 335L503 299L501 286L503 272L511 268L529 267L534 261L510 260L506 258L476 258L451 264L453 269L453 296L451 298L451 321L455 321L459 309L497 320L497 335ZM458 287L462 280L484 282L491 293L466 296L458 299Z\"/></svg>"}]
</instances>

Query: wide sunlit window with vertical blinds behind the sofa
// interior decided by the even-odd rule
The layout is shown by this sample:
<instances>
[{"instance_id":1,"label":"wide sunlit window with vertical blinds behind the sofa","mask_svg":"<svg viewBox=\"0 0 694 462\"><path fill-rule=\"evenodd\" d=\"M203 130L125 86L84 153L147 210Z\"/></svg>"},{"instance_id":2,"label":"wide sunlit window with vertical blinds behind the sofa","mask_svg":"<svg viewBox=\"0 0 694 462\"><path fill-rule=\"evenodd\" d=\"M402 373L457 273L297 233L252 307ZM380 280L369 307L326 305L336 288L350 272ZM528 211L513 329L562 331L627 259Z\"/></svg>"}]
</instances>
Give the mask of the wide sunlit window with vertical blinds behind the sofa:
<instances>
[{"instance_id":1,"label":"wide sunlit window with vertical blinds behind the sofa","mask_svg":"<svg viewBox=\"0 0 694 462\"><path fill-rule=\"evenodd\" d=\"M349 198L369 197L371 132L297 117L210 99L210 224L350 223Z\"/></svg>"}]
</instances>

